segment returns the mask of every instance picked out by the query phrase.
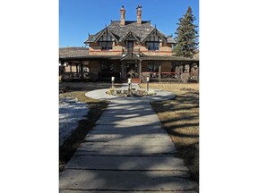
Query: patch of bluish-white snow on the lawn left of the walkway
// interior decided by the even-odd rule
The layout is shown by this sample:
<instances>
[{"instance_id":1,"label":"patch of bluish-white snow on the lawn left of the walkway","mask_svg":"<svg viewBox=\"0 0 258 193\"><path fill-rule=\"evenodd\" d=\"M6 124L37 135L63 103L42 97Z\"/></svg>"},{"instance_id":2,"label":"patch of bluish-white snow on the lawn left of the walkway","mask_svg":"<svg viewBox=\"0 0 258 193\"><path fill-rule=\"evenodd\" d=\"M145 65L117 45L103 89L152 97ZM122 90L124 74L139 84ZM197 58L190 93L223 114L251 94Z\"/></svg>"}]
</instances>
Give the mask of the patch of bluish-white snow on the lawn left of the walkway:
<instances>
[{"instance_id":1,"label":"patch of bluish-white snow on the lawn left of the walkway","mask_svg":"<svg viewBox=\"0 0 258 193\"><path fill-rule=\"evenodd\" d=\"M59 146L62 146L64 140L78 127L78 121L85 119L83 116L88 111L88 106L77 99L59 98Z\"/></svg>"}]
</instances>

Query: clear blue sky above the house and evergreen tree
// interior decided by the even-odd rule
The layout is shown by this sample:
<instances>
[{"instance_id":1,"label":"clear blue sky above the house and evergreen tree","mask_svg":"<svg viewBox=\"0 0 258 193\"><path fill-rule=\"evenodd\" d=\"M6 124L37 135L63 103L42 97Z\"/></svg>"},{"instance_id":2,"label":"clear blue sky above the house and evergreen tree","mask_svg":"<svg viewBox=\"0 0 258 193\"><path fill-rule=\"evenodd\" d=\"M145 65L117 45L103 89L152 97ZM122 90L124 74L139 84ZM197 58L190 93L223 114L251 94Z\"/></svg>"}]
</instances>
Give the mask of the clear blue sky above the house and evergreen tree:
<instances>
[{"instance_id":1,"label":"clear blue sky above the house and evergreen tree","mask_svg":"<svg viewBox=\"0 0 258 193\"><path fill-rule=\"evenodd\" d=\"M199 26L199 0L59 0L59 46L85 46L88 33L95 34L120 20L120 8L125 6L125 20L136 21L136 7L142 5L142 21L167 35L175 37L176 23L188 6Z\"/></svg>"}]
</instances>

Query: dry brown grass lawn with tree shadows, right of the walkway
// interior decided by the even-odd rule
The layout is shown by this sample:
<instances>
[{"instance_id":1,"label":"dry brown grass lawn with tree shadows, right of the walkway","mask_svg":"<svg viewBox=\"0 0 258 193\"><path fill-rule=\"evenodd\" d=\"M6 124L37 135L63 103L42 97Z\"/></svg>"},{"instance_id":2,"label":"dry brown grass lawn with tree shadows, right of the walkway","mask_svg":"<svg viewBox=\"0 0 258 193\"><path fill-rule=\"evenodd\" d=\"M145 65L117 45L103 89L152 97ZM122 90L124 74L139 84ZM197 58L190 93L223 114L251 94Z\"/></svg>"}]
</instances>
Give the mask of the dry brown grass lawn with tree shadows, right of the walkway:
<instances>
[{"instance_id":1,"label":"dry brown grass lawn with tree shadows, right of the walkway","mask_svg":"<svg viewBox=\"0 0 258 193\"><path fill-rule=\"evenodd\" d=\"M146 84L141 84L146 88ZM168 131L185 160L193 180L199 182L199 85L197 83L150 83L176 94L173 100L154 102L151 105L159 116L162 127Z\"/></svg>"}]
</instances>

